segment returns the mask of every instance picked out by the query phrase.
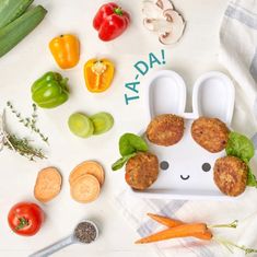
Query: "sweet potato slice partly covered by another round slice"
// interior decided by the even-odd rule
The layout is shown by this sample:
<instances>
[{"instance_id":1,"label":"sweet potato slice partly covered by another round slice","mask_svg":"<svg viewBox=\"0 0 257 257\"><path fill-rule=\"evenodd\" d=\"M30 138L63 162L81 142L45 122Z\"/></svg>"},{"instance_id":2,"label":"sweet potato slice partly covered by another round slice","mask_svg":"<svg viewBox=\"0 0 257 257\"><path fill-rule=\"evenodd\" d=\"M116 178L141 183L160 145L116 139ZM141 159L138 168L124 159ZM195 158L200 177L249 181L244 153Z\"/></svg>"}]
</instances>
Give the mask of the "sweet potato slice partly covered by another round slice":
<instances>
[{"instance_id":1,"label":"sweet potato slice partly covered by another round slice","mask_svg":"<svg viewBox=\"0 0 257 257\"><path fill-rule=\"evenodd\" d=\"M95 161L85 161L79 164L73 168L73 171L70 174L69 182L70 185L73 184L73 182L85 174L93 175L97 178L100 182L100 185L103 186L104 184L104 168L102 165Z\"/></svg>"}]
</instances>

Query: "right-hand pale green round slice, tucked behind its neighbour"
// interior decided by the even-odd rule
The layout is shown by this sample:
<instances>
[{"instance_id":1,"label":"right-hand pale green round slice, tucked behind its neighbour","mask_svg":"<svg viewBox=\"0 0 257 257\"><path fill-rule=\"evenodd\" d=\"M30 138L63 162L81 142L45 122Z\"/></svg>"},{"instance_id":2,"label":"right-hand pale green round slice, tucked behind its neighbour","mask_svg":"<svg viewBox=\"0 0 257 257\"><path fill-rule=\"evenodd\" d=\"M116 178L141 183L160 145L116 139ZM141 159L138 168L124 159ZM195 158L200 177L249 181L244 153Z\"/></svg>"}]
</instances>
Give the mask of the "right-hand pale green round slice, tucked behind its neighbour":
<instances>
[{"instance_id":1,"label":"right-hand pale green round slice, tucked behind its neighbour","mask_svg":"<svg viewBox=\"0 0 257 257\"><path fill-rule=\"evenodd\" d=\"M90 117L94 125L94 135L105 133L114 126L114 117L108 113L98 113Z\"/></svg>"}]
</instances>

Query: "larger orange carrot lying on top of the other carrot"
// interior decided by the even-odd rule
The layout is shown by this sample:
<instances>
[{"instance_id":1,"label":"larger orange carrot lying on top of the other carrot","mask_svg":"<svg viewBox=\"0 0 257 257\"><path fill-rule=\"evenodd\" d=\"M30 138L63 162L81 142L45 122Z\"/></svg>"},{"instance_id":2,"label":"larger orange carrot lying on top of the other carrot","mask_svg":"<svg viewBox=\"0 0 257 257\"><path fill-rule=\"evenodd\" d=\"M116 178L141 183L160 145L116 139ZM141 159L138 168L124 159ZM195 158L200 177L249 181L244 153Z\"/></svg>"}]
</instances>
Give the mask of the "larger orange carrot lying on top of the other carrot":
<instances>
[{"instance_id":1,"label":"larger orange carrot lying on top of the other carrot","mask_svg":"<svg viewBox=\"0 0 257 257\"><path fill-rule=\"evenodd\" d=\"M148 244L177 237L196 236L199 234L205 234L207 231L208 227L205 223L182 224L143 237L137 241L136 244Z\"/></svg>"}]
</instances>

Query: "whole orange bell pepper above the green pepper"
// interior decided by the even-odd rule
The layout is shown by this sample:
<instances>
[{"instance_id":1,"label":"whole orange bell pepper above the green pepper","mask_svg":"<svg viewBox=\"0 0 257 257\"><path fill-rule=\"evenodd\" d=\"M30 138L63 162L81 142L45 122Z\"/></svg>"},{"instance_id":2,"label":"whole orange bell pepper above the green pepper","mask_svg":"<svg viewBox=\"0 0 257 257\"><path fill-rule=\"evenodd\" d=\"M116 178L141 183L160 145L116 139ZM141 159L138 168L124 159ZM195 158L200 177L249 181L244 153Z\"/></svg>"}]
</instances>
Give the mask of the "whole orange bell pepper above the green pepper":
<instances>
[{"instance_id":1,"label":"whole orange bell pepper above the green pepper","mask_svg":"<svg viewBox=\"0 0 257 257\"><path fill-rule=\"evenodd\" d=\"M80 42L73 35L60 35L49 43L51 55L61 69L70 69L80 60Z\"/></svg>"}]
</instances>

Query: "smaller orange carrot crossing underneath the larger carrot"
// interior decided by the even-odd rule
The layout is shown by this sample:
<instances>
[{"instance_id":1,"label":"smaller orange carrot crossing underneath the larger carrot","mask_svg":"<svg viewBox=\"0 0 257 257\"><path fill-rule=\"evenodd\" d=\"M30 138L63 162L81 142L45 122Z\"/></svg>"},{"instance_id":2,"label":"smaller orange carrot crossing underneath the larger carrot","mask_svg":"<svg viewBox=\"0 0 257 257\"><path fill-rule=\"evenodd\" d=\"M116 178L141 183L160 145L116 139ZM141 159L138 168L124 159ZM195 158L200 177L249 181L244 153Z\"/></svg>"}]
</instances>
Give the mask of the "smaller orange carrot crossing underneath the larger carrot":
<instances>
[{"instance_id":1,"label":"smaller orange carrot crossing underneath the larger carrot","mask_svg":"<svg viewBox=\"0 0 257 257\"><path fill-rule=\"evenodd\" d=\"M157 215L157 214L153 214L153 213L148 213L148 215L151 219L153 219L154 221L156 221L163 225L170 226L170 227L186 224L179 220L171 219L171 218L163 217L163 215ZM196 234L195 237L197 237L198 240L211 240L212 233L210 232L210 230L207 230L206 233Z\"/></svg>"}]
</instances>

